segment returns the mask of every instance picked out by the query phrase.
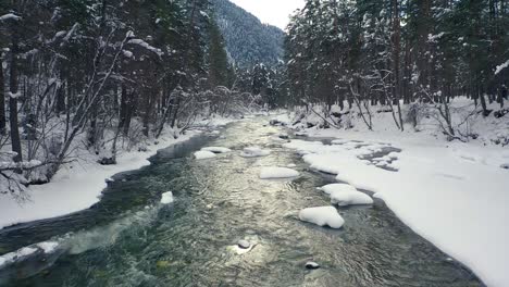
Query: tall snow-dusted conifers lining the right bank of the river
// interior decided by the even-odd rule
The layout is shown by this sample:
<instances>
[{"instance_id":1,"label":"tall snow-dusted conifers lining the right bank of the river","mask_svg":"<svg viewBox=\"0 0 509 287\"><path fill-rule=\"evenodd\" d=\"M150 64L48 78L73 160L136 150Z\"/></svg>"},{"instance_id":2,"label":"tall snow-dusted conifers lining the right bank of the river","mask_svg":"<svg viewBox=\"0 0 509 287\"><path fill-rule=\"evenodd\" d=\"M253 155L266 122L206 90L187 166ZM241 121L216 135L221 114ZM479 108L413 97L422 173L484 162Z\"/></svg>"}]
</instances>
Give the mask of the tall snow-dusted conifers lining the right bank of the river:
<instances>
[{"instance_id":1,"label":"tall snow-dusted conifers lining the right bank of the river","mask_svg":"<svg viewBox=\"0 0 509 287\"><path fill-rule=\"evenodd\" d=\"M285 41L286 102L348 103L370 128L383 104L400 129L401 104L430 103L456 137L451 98L484 116L507 100L508 27L507 0L308 0Z\"/></svg>"}]
</instances>

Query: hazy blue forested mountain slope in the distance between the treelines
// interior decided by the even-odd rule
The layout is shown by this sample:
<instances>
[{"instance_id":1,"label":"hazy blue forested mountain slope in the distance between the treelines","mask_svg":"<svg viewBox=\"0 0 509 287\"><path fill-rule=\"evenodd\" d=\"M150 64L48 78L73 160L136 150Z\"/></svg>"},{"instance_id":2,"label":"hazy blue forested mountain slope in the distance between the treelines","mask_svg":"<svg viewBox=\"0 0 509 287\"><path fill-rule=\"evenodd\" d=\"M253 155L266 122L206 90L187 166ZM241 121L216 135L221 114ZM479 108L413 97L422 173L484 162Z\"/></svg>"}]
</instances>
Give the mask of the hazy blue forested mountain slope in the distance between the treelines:
<instances>
[{"instance_id":1,"label":"hazy blue forested mountain slope in the distance between the treelines","mask_svg":"<svg viewBox=\"0 0 509 287\"><path fill-rule=\"evenodd\" d=\"M211 2L228 54L238 66L249 67L257 63L272 65L283 59L283 30L262 24L254 15L228 0Z\"/></svg>"}]
</instances>

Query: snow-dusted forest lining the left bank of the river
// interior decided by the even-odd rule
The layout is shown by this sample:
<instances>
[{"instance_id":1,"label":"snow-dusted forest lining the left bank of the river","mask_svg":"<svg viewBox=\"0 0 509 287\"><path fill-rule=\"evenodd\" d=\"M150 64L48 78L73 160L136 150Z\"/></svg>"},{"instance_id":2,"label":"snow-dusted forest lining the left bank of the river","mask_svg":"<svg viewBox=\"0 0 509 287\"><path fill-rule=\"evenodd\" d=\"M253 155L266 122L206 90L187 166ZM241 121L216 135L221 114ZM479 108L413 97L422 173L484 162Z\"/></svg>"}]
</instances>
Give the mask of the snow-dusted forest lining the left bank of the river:
<instances>
[{"instance_id":1,"label":"snow-dusted forest lining the left bank of the river","mask_svg":"<svg viewBox=\"0 0 509 287\"><path fill-rule=\"evenodd\" d=\"M1 1L0 49L0 192L252 100L215 91L232 76L207 0Z\"/></svg>"}]
</instances>

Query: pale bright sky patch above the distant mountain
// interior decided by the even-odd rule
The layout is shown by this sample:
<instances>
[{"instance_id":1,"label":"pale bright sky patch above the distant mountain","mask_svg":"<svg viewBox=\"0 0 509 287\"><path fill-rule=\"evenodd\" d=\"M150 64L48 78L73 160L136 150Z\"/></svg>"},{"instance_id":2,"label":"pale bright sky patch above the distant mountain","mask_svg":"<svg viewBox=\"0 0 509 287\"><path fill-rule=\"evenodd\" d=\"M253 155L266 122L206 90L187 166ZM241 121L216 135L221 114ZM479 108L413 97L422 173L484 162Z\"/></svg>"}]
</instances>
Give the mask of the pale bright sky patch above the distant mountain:
<instances>
[{"instance_id":1,"label":"pale bright sky patch above the distant mountain","mask_svg":"<svg viewBox=\"0 0 509 287\"><path fill-rule=\"evenodd\" d=\"M288 24L288 15L303 8L305 0L231 0L261 20L282 29Z\"/></svg>"}]
</instances>

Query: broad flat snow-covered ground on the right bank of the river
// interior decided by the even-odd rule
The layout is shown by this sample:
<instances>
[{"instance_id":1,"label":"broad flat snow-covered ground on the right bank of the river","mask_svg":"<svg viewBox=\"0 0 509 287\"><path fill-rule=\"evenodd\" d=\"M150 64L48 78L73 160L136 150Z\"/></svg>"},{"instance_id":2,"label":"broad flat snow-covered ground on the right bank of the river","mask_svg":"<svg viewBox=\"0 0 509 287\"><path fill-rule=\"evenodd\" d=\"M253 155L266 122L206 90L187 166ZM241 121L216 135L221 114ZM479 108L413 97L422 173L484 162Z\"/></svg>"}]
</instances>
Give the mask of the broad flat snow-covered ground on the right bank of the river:
<instances>
[{"instance_id":1,"label":"broad flat snow-covered ground on the right bank of the river","mask_svg":"<svg viewBox=\"0 0 509 287\"><path fill-rule=\"evenodd\" d=\"M287 115L277 120L289 123ZM502 169L509 149L482 139L508 132L486 125L492 134L463 144L446 141L432 129L401 133L377 123L375 132L360 122L346 130L300 127L310 137L337 140L291 140L285 146L311 167L337 175L338 182L376 192L407 225L488 286L509 286L509 170Z\"/></svg>"}]
</instances>

